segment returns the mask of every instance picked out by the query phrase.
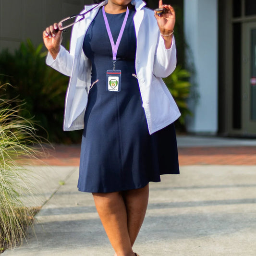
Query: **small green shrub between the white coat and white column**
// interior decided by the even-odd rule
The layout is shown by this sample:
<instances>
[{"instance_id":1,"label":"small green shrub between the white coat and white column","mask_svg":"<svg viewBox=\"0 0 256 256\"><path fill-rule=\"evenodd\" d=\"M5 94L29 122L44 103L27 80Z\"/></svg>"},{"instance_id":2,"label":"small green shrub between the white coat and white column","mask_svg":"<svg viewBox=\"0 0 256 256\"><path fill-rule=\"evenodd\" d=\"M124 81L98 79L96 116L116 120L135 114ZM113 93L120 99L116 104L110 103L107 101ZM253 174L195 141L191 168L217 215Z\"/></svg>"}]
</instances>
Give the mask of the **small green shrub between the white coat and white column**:
<instances>
[{"instance_id":1,"label":"small green shrub between the white coat and white column","mask_svg":"<svg viewBox=\"0 0 256 256\"><path fill-rule=\"evenodd\" d=\"M163 79L181 111L181 117L178 119L180 127L184 126L186 115L192 115L187 105L191 88L189 78L190 73L177 66L170 76Z\"/></svg>"}]
</instances>

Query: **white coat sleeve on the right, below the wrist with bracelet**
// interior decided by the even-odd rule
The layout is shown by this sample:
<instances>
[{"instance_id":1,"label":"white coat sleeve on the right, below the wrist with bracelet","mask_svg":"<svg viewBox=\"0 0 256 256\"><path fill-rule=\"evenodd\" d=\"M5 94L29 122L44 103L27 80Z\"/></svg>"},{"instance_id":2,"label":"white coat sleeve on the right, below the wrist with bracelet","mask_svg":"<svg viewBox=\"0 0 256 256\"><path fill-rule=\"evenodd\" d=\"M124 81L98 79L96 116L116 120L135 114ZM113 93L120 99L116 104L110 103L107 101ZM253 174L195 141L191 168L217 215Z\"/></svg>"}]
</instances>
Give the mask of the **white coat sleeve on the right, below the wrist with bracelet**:
<instances>
[{"instance_id":1,"label":"white coat sleeve on the right, below the wrist with bracelet","mask_svg":"<svg viewBox=\"0 0 256 256\"><path fill-rule=\"evenodd\" d=\"M159 36L153 74L157 77L167 77L175 70L176 63L176 46L174 37L172 37L171 48L166 49L164 39Z\"/></svg>"}]
</instances>

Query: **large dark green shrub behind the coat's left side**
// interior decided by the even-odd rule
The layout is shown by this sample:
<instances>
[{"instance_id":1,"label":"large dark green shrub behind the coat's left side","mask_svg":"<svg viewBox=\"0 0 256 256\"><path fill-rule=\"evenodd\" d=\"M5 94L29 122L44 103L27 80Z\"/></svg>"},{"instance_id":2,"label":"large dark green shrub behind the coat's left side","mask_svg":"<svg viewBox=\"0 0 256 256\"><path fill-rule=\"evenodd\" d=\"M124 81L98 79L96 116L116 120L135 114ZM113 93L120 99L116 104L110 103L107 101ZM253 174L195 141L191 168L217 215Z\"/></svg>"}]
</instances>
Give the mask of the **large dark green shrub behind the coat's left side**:
<instances>
[{"instance_id":1,"label":"large dark green shrub behind the coat's left side","mask_svg":"<svg viewBox=\"0 0 256 256\"><path fill-rule=\"evenodd\" d=\"M49 141L73 143L80 141L77 132L62 131L64 98L69 78L48 67L46 52L40 44L35 48L30 40L22 43L14 53L7 49L0 52L0 81L13 87L6 89L7 98L19 95L25 110L19 115L34 120L49 133ZM38 134L46 136L41 129Z\"/></svg>"}]
</instances>

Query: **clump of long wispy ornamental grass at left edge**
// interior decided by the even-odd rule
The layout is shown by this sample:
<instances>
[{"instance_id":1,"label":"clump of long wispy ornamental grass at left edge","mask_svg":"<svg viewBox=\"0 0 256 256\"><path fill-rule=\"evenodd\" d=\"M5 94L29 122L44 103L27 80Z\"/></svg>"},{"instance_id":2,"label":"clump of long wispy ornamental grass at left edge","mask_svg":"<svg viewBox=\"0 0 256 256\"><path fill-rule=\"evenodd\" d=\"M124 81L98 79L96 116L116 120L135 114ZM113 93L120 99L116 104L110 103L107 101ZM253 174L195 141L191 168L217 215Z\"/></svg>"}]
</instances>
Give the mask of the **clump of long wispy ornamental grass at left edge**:
<instances>
[{"instance_id":1,"label":"clump of long wispy ornamental grass at left edge","mask_svg":"<svg viewBox=\"0 0 256 256\"><path fill-rule=\"evenodd\" d=\"M42 140L33 122L18 115L20 107L17 99L0 95L0 252L16 244L33 220L31 210L20 199L31 189L26 178L29 173L15 159L42 155Z\"/></svg>"}]
</instances>

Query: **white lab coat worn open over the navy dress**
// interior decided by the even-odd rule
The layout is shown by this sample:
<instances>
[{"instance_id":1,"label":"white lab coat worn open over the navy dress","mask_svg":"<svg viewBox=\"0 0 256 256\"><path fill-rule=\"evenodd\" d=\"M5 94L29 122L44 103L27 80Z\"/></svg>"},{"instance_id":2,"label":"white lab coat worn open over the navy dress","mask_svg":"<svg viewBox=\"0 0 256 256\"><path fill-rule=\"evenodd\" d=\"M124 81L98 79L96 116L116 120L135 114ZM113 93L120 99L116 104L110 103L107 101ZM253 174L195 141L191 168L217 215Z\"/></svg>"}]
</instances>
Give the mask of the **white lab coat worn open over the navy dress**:
<instances>
[{"instance_id":1,"label":"white lab coat worn open over the navy dress","mask_svg":"<svg viewBox=\"0 0 256 256\"><path fill-rule=\"evenodd\" d=\"M91 83L91 62L82 49L85 33L96 16L98 9L108 1L86 14L85 19L74 24L70 52L61 46L55 60L48 54L47 64L70 76L65 99L64 131L84 128L84 115ZM137 37L135 69L138 77L143 108L149 134L166 127L180 116L180 111L161 77L170 75L176 67L175 41L171 49L165 49L159 35L154 12L145 7L142 0L132 0L135 5L134 26ZM94 5L85 6L86 12ZM99 42L102 43L102 42Z\"/></svg>"}]
</instances>

